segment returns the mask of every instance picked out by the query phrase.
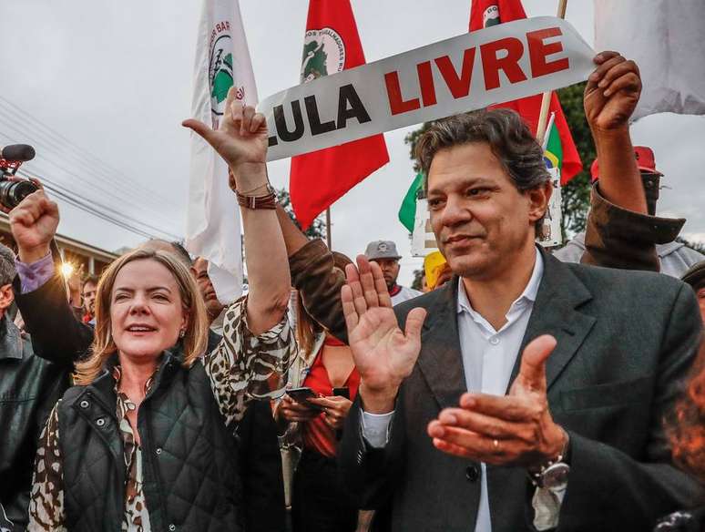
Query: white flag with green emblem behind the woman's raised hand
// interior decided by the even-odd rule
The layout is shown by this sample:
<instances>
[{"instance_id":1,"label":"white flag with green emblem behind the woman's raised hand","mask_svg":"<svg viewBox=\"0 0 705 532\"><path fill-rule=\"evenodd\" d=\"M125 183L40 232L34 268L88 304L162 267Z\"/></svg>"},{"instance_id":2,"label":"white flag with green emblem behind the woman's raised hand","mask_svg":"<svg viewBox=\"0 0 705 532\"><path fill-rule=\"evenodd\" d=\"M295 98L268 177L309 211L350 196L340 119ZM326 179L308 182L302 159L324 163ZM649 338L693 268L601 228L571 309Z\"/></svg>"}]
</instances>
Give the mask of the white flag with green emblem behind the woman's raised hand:
<instances>
[{"instance_id":1,"label":"white flag with green emblem behind the woman's raised hand","mask_svg":"<svg viewBox=\"0 0 705 532\"><path fill-rule=\"evenodd\" d=\"M196 42L191 117L218 128L230 87L248 105L257 104L250 52L238 0L204 0ZM191 133L189 215L186 248L209 261L209 276L222 303L242 292L240 207L228 186L228 166Z\"/></svg>"}]
</instances>

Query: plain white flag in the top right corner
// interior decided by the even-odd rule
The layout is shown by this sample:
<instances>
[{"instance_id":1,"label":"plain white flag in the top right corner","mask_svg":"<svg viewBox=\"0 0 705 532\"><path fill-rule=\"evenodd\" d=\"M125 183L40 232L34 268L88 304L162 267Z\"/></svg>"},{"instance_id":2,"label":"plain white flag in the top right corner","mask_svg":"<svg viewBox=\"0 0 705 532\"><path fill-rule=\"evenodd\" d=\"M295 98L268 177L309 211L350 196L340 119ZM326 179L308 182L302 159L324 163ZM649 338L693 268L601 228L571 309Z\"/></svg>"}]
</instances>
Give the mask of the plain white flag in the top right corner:
<instances>
[{"instance_id":1,"label":"plain white flag in the top right corner","mask_svg":"<svg viewBox=\"0 0 705 532\"><path fill-rule=\"evenodd\" d=\"M639 65L635 120L705 114L705 1L595 0L595 47Z\"/></svg>"}]
</instances>

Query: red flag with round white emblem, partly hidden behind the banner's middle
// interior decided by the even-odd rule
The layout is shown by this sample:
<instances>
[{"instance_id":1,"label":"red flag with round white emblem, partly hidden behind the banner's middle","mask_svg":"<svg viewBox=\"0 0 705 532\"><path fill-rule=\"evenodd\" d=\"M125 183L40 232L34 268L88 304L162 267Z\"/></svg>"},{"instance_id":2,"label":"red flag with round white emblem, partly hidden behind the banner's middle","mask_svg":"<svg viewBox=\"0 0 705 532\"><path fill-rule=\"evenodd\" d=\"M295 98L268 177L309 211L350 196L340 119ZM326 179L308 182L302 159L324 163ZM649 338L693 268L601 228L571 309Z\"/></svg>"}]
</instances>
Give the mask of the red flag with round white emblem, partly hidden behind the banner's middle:
<instances>
[{"instance_id":1,"label":"red flag with round white emblem, partly hidden behind the banner's middle","mask_svg":"<svg viewBox=\"0 0 705 532\"><path fill-rule=\"evenodd\" d=\"M364 62L350 0L310 0L301 83ZM387 162L383 135L291 158L291 205L301 226L308 228L323 210Z\"/></svg>"}]
</instances>

